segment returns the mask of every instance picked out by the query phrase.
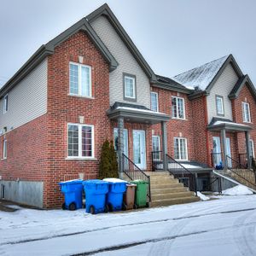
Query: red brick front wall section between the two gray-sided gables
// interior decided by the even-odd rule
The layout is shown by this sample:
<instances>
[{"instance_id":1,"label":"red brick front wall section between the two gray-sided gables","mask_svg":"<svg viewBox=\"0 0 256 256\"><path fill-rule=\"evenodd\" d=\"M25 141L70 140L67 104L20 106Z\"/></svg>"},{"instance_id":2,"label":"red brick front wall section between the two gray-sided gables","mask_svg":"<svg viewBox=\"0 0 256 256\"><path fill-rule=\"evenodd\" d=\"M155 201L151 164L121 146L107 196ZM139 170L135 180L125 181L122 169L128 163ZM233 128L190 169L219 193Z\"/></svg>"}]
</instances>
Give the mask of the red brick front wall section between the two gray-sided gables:
<instances>
[{"instance_id":1,"label":"red brick front wall section between the two gray-sided gables","mask_svg":"<svg viewBox=\"0 0 256 256\"><path fill-rule=\"evenodd\" d=\"M188 144L188 158L195 160L194 149L194 129L193 129L193 113L192 105L188 96L176 91L163 90L160 88L152 87L152 91L158 92L159 98L159 111L172 116L172 96L180 96L184 98L185 102L185 119L170 119L167 122L167 151L172 157L174 156L174 137L187 138ZM152 125L154 135L161 136L161 125ZM161 146L162 147L162 146Z\"/></svg>"}]
</instances>

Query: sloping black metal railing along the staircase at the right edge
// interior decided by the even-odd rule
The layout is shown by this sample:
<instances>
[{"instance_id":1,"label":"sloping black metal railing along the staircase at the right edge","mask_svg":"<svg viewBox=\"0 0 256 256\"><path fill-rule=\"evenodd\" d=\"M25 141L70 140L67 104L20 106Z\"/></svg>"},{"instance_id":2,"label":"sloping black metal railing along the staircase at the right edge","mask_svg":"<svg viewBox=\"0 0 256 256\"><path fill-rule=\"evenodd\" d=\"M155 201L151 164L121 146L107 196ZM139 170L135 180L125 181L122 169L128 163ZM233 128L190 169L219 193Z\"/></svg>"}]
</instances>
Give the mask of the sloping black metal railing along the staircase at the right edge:
<instances>
[{"instance_id":1,"label":"sloping black metal railing along the staircase at the right edge","mask_svg":"<svg viewBox=\"0 0 256 256\"><path fill-rule=\"evenodd\" d=\"M232 159L229 155L226 157L227 162L230 162L231 165L227 166L227 168L235 174L235 178L240 177L241 180L249 183L256 189L256 171L252 169L248 169L247 166L242 165L239 161Z\"/></svg>"}]
</instances>

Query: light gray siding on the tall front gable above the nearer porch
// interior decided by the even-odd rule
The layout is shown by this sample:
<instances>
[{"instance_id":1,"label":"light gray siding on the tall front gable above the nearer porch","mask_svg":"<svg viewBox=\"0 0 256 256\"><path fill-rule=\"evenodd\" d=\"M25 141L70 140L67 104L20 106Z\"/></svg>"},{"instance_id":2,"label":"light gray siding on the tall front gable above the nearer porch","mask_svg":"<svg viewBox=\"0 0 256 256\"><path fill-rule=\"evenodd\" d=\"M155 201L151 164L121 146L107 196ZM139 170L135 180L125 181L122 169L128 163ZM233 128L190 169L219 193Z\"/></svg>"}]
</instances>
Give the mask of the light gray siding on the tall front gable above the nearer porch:
<instances>
[{"instance_id":1,"label":"light gray siding on the tall front gable above the nearer porch","mask_svg":"<svg viewBox=\"0 0 256 256\"><path fill-rule=\"evenodd\" d=\"M108 19L100 16L92 21L91 26L119 62L119 66L112 73L109 73L110 105L113 105L114 102L127 102L124 100L123 73L129 73L135 75L137 81L137 102L130 103L150 108L149 79Z\"/></svg>"}]
</instances>

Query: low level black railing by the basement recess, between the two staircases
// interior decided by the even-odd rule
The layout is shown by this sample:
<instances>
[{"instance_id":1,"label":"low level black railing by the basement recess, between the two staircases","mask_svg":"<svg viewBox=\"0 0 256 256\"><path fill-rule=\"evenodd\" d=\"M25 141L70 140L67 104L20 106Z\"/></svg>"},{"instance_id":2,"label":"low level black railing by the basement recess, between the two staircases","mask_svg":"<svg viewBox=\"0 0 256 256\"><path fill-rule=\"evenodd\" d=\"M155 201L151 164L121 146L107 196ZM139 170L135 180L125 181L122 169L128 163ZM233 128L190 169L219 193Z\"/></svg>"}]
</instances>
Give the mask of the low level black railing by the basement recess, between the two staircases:
<instances>
[{"instance_id":1,"label":"low level black railing by the basement recess, between the two staircases","mask_svg":"<svg viewBox=\"0 0 256 256\"><path fill-rule=\"evenodd\" d=\"M222 193L220 177L197 177L197 190Z\"/></svg>"}]
</instances>

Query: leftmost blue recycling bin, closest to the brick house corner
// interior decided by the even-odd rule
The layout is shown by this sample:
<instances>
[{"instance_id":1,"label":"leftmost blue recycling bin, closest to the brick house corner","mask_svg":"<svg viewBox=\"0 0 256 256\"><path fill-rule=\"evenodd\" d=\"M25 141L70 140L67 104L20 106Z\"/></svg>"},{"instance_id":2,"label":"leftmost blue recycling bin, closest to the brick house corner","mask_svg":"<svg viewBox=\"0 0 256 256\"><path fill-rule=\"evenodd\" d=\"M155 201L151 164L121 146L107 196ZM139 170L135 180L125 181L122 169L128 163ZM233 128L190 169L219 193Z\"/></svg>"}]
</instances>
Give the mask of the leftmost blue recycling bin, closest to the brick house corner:
<instances>
[{"instance_id":1,"label":"leftmost blue recycling bin, closest to the brick house corner","mask_svg":"<svg viewBox=\"0 0 256 256\"><path fill-rule=\"evenodd\" d=\"M65 202L62 205L62 209L74 211L82 208L83 180L75 179L59 184L61 187L61 192L65 195Z\"/></svg>"}]
</instances>

